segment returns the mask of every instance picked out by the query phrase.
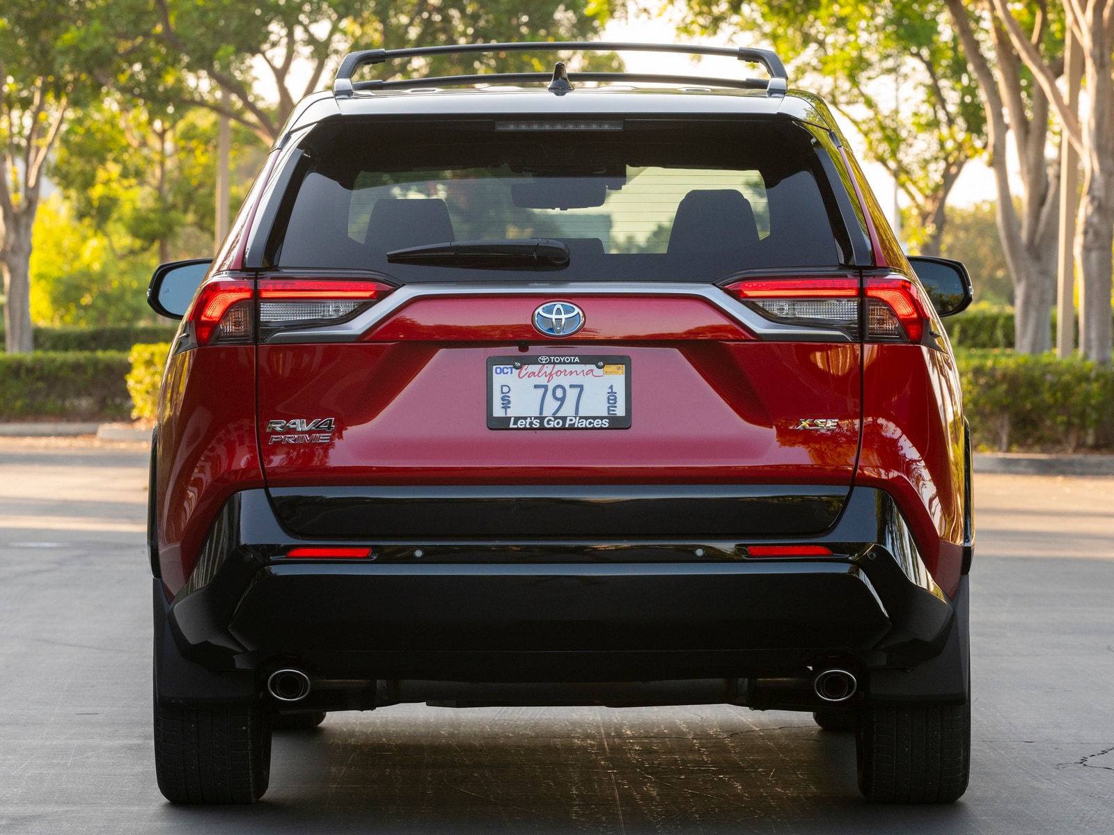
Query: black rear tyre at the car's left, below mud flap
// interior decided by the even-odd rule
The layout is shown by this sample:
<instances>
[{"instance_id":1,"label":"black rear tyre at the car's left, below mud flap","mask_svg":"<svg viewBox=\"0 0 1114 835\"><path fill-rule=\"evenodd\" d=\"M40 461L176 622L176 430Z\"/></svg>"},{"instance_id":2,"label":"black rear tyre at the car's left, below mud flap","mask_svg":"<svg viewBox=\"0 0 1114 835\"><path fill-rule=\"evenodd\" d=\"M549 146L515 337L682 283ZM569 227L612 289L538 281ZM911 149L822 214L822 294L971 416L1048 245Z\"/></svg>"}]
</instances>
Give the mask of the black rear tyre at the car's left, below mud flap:
<instances>
[{"instance_id":1,"label":"black rear tyre at the car's left, below mud flap","mask_svg":"<svg viewBox=\"0 0 1114 835\"><path fill-rule=\"evenodd\" d=\"M271 778L270 708L156 705L155 774L170 803L255 803Z\"/></svg>"}]
</instances>

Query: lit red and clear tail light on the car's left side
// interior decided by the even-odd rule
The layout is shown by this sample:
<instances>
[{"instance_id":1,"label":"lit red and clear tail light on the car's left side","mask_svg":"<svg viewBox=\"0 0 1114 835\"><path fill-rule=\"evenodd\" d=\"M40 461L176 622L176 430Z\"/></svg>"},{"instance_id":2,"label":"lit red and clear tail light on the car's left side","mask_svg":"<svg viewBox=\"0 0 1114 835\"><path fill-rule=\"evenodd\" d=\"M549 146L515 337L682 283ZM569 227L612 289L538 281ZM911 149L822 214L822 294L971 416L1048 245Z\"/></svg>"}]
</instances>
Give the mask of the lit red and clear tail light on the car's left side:
<instances>
[{"instance_id":1,"label":"lit red and clear tail light on the car's left side","mask_svg":"<svg viewBox=\"0 0 1114 835\"><path fill-rule=\"evenodd\" d=\"M203 284L185 316L195 343L265 342L277 331L342 322L394 289L379 282L315 278L261 278L255 285L253 279Z\"/></svg>"}]
</instances>

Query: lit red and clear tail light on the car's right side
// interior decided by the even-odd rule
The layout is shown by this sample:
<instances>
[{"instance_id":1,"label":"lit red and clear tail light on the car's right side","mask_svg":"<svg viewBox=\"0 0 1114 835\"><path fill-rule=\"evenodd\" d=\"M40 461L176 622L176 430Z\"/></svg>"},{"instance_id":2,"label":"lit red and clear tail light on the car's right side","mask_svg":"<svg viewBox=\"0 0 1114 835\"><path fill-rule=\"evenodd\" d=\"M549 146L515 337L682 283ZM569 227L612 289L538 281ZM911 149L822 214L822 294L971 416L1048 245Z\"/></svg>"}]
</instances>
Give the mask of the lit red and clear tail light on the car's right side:
<instances>
[{"instance_id":1,"label":"lit red and clear tail light on the car's right side","mask_svg":"<svg viewBox=\"0 0 1114 835\"><path fill-rule=\"evenodd\" d=\"M793 277L743 281L725 289L774 322L838 330L859 337L866 301L868 342L920 342L930 322L928 302L901 275Z\"/></svg>"}]
</instances>

